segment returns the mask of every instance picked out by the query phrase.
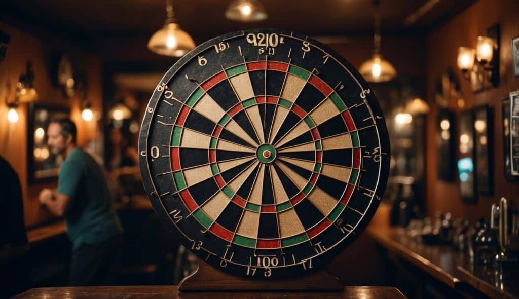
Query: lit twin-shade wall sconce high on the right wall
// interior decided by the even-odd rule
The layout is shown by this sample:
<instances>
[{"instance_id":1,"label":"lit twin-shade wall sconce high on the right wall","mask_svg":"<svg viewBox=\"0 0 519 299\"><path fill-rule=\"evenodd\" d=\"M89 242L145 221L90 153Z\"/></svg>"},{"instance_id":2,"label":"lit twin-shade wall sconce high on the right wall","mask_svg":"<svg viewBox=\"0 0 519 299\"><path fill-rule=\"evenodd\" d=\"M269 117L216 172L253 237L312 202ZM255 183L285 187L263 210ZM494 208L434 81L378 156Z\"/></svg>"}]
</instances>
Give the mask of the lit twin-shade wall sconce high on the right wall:
<instances>
[{"instance_id":1,"label":"lit twin-shade wall sconce high on the right wall","mask_svg":"<svg viewBox=\"0 0 519 299\"><path fill-rule=\"evenodd\" d=\"M495 24L487 29L487 36L477 37L476 48L458 48L458 69L463 78L470 80L470 74L483 77L483 82L490 86L499 85L499 26ZM479 65L475 65L475 64Z\"/></svg>"}]
</instances>

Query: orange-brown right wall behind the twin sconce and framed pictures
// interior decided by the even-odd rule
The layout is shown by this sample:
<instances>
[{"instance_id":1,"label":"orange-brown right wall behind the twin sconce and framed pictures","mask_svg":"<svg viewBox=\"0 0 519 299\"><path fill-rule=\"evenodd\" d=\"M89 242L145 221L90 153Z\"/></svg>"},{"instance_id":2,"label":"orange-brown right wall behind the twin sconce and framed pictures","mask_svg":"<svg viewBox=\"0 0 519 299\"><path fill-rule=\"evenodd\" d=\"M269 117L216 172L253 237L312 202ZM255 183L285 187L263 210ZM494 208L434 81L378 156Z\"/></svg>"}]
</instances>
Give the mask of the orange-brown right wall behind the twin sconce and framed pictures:
<instances>
[{"instance_id":1,"label":"orange-brown right wall behind the twin sconce and framed pictures","mask_svg":"<svg viewBox=\"0 0 519 299\"><path fill-rule=\"evenodd\" d=\"M427 123L427 207L432 216L434 211L450 211L456 217L468 218L472 222L484 217L489 219L490 206L501 196L517 200L519 184L510 183L503 174L503 136L501 99L510 91L519 89L519 77L514 77L512 64L511 39L519 36L519 1L517 0L480 0L467 10L449 20L427 36L427 89L429 103L432 107ZM500 85L497 88L472 93L470 81L462 79L456 67L456 54L460 46L475 48L478 35L485 35L486 29L499 23L501 26L500 42ZM435 79L450 67L461 85L461 93L465 99L463 110L482 104L488 104L494 110L494 195L479 196L476 204L463 204L460 200L459 181L446 183L437 179L435 120L438 107L432 99ZM456 103L450 108L460 111ZM459 116L459 114L457 114ZM457 144L457 142L456 142ZM457 152L457 151L456 151Z\"/></svg>"}]
</instances>

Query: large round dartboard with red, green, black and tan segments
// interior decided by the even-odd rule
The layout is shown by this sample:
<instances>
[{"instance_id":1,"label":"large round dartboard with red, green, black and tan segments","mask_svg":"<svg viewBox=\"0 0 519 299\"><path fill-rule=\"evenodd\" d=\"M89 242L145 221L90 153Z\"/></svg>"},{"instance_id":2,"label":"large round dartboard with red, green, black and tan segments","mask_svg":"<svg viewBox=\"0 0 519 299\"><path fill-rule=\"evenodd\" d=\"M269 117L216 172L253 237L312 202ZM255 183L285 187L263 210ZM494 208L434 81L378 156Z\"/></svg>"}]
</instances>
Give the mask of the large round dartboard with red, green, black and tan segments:
<instances>
[{"instance_id":1,"label":"large round dartboard with red, green, black and tan segments","mask_svg":"<svg viewBox=\"0 0 519 299\"><path fill-rule=\"evenodd\" d=\"M305 274L365 228L389 173L374 92L308 36L256 29L177 61L146 107L140 167L185 247L240 276Z\"/></svg>"}]
</instances>

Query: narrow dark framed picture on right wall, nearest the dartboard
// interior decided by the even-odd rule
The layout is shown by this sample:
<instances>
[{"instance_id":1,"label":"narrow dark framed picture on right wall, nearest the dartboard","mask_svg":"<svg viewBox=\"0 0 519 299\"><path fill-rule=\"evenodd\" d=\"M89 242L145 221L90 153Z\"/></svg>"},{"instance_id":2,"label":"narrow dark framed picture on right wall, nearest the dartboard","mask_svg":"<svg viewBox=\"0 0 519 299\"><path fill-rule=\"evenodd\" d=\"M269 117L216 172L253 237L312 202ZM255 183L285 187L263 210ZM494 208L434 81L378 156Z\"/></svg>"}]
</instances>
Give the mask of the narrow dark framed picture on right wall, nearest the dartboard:
<instances>
[{"instance_id":1,"label":"narrow dark framed picture on right wall, nearest the dartboard","mask_svg":"<svg viewBox=\"0 0 519 299\"><path fill-rule=\"evenodd\" d=\"M438 144L438 179L454 179L454 113L440 109L436 120L436 144Z\"/></svg>"}]
</instances>

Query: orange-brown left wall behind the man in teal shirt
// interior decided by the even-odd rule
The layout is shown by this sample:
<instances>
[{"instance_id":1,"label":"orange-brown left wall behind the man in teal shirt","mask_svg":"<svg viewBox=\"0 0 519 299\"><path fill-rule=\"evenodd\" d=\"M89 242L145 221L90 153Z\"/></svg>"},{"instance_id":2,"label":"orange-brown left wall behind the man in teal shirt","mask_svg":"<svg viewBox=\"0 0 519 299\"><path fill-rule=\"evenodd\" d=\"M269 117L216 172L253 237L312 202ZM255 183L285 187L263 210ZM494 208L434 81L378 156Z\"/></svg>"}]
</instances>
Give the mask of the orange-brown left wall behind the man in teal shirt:
<instances>
[{"instance_id":1,"label":"orange-brown left wall behind the man in teal shirt","mask_svg":"<svg viewBox=\"0 0 519 299\"><path fill-rule=\"evenodd\" d=\"M50 57L53 50L59 49L70 57L75 73L85 73L87 97L92 103L94 112L102 111L101 58L52 36L35 37L3 23L0 23L0 30L11 37L7 55L3 61L0 61L0 155L9 161L20 177L25 225L32 226L50 219L46 209L39 206L37 195L43 187L56 187L56 181L28 184L26 158L28 105L20 105L18 108L20 119L17 123L11 124L7 120L5 99L10 102L15 99L18 77L25 72L26 62L31 60L35 73L34 87L39 102L69 107L78 129L78 144L83 145L92 138L95 132L95 121L84 121L81 118L80 100L78 98L67 100L62 89L52 85Z\"/></svg>"}]
</instances>

